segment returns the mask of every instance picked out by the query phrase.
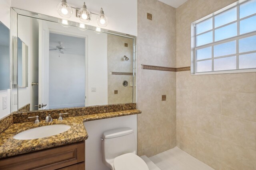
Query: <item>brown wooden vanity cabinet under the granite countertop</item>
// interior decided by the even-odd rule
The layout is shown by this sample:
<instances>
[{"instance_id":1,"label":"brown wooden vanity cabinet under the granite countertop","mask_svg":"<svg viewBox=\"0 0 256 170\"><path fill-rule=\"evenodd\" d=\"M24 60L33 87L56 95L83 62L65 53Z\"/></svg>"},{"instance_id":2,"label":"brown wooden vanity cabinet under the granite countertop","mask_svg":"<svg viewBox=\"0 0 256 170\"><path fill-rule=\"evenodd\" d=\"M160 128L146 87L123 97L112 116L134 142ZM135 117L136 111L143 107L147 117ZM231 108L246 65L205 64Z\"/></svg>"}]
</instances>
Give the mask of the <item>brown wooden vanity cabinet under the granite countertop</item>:
<instances>
[{"instance_id":1,"label":"brown wooden vanity cabinet under the granite countertop","mask_svg":"<svg viewBox=\"0 0 256 170\"><path fill-rule=\"evenodd\" d=\"M1 170L84 170L84 141L0 159Z\"/></svg>"}]
</instances>

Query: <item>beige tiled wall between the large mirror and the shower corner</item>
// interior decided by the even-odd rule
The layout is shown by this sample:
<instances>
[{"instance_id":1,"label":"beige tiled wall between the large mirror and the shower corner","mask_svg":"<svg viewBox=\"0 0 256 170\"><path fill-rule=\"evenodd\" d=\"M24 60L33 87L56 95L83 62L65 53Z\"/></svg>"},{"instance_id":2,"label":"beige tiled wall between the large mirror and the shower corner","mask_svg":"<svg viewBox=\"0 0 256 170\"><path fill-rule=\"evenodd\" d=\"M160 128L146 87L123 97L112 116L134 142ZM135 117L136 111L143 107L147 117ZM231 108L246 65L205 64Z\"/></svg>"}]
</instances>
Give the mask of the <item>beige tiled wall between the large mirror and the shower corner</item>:
<instances>
[{"instance_id":1,"label":"beige tiled wall between the large mirror and the shower corner","mask_svg":"<svg viewBox=\"0 0 256 170\"><path fill-rule=\"evenodd\" d=\"M176 9L138 0L137 47L138 155L152 156L176 146L176 72L140 65L176 67Z\"/></svg>"}]
</instances>

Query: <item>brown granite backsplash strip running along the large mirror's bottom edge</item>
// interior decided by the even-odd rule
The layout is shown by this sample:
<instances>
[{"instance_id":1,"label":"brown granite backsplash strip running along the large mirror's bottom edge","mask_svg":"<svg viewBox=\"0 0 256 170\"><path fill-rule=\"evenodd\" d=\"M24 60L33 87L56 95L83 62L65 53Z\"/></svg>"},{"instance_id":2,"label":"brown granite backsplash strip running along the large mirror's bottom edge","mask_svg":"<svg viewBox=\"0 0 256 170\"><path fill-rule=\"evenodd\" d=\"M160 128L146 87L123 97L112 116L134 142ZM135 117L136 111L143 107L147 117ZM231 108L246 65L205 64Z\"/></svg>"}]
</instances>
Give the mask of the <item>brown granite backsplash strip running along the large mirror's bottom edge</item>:
<instances>
[{"instance_id":1,"label":"brown granite backsplash strip running along the large mirror's bottom edge","mask_svg":"<svg viewBox=\"0 0 256 170\"><path fill-rule=\"evenodd\" d=\"M39 110L39 111L29 111L23 113L12 113L13 123L23 123L31 121L28 119L30 116L39 116L40 120L44 120L46 115L50 114L53 119L59 117L59 113L69 113L63 117L75 117L83 115L92 115L97 113L109 113L124 110L136 109L136 103L128 104L113 104L113 105L103 105L103 106L89 106L89 107L72 107L65 109L52 109L52 110Z\"/></svg>"}]
</instances>

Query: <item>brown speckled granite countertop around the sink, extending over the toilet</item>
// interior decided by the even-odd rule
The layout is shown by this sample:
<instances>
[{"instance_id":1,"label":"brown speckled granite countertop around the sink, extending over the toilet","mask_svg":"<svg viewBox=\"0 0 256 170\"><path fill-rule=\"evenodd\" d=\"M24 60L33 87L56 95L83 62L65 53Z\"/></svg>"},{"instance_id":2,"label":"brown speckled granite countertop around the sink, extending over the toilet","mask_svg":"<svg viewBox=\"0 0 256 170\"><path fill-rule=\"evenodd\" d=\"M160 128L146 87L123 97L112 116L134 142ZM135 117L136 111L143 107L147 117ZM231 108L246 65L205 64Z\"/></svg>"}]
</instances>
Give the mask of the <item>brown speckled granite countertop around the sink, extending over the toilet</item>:
<instances>
[{"instance_id":1,"label":"brown speckled granite countertop around the sink, extending over the toilet","mask_svg":"<svg viewBox=\"0 0 256 170\"><path fill-rule=\"evenodd\" d=\"M15 123L0 133L0 158L84 141L88 138L88 134L84 128L84 122L140 113L140 110L134 109L66 118L63 116L64 120L58 121L57 119L53 119L50 123L46 123L45 121L41 121L38 124L33 124L32 122ZM70 125L71 128L58 135L40 139L18 140L13 138L14 135L27 129L54 124L66 124Z\"/></svg>"}]
</instances>

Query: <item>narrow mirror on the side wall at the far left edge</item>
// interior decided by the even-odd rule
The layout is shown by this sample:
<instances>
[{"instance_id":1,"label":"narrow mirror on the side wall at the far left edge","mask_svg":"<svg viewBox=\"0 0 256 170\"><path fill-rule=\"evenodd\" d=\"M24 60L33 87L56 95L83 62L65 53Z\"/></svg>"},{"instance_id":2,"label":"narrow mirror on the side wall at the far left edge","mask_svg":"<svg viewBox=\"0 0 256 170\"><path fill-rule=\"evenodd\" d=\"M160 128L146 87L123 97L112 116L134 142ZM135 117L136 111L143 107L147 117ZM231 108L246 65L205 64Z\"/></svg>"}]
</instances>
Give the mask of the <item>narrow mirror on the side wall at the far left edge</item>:
<instances>
[{"instance_id":1,"label":"narrow mirror on the side wall at the far left edge","mask_svg":"<svg viewBox=\"0 0 256 170\"><path fill-rule=\"evenodd\" d=\"M0 22L0 90L9 89L10 30Z\"/></svg>"}]
</instances>

